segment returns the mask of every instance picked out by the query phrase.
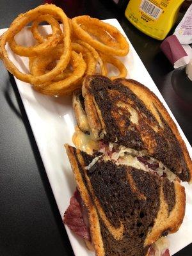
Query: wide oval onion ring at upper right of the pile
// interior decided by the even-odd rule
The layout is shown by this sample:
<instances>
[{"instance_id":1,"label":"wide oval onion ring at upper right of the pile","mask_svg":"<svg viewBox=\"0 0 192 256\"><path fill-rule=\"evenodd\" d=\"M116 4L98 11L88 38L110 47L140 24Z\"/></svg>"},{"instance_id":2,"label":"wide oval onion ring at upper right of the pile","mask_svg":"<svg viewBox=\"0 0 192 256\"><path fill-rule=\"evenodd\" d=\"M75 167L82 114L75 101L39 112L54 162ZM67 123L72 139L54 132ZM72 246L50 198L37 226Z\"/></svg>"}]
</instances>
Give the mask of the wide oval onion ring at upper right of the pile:
<instances>
[{"instance_id":1,"label":"wide oval onion ring at upper right of the pile","mask_svg":"<svg viewBox=\"0 0 192 256\"><path fill-rule=\"evenodd\" d=\"M74 33L76 36L85 41L88 42L91 46L93 46L95 49L99 50L100 52L106 53L110 55L116 55L116 56L125 56L129 52L129 44L127 43L127 40L125 37L116 29L114 26L111 26L110 24L107 24L105 22L102 22L99 19L91 18L90 16L83 15L78 16L72 19L72 24L74 28ZM89 35L87 31L85 31L83 28L81 28L81 24L85 26L95 26L97 28L97 31L107 31L111 38L114 38L116 40L116 47L109 46L108 40L106 42L105 38L102 41L102 38L99 38L99 40L95 40L93 36ZM98 33L97 33L98 35Z\"/></svg>"}]
</instances>

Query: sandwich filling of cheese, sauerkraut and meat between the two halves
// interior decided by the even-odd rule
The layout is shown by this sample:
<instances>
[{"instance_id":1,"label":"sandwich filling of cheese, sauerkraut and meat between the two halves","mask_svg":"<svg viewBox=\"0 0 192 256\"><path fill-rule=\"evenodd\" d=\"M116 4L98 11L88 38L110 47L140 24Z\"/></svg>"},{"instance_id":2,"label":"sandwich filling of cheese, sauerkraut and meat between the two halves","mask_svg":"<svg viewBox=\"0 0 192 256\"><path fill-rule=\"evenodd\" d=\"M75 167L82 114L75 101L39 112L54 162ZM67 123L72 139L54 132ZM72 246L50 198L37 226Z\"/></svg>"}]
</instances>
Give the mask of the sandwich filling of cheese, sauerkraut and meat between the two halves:
<instances>
[{"instance_id":1,"label":"sandwich filling of cheese, sauerkraut and meat between the two halves","mask_svg":"<svg viewBox=\"0 0 192 256\"><path fill-rule=\"evenodd\" d=\"M161 161L154 159L154 157L147 156L147 150L135 150L132 148L118 146L116 143L93 140L92 135L85 134L79 127L76 127L76 132L72 138L74 145L80 150L88 154L99 152L99 156L93 158L92 163L86 166L88 170L99 159L104 161L114 161L116 164L128 164L134 168L144 170L146 172L155 172L161 177L167 177L170 181L179 180L175 173L171 172L169 168L164 166Z\"/></svg>"}]
</instances>

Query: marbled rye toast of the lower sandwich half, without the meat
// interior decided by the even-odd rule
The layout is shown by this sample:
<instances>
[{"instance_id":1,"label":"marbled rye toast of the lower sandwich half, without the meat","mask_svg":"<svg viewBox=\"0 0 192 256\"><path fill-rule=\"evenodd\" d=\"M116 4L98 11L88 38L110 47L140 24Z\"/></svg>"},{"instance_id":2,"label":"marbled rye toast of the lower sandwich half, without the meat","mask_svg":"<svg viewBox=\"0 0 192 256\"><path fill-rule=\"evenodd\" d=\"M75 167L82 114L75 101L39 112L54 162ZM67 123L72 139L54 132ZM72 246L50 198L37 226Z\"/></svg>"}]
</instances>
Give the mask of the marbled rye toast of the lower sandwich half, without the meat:
<instances>
[{"instance_id":1,"label":"marbled rye toast of the lower sandwich half, without the meat","mask_svg":"<svg viewBox=\"0 0 192 256\"><path fill-rule=\"evenodd\" d=\"M186 200L184 188L179 184L179 182L175 182L175 185L174 185L175 198L176 198L175 205L173 206L172 211L169 211L168 202L167 200L165 200L164 193L163 193L163 180L166 178L157 177L152 173L149 174L143 170L137 170L135 168L130 168L129 166L128 167L122 166L123 169L121 169L121 166L115 167L114 163L111 163L110 165L108 162L106 162L106 164L96 163L95 166L93 166L93 169L90 168L89 172L87 172L87 170L85 170L84 167L88 166L88 164L92 162L93 157L87 155L84 152L81 152L76 148L70 147L68 145L65 145L65 148L67 149L67 154L70 160L70 164L72 165L72 170L74 172L74 175L77 181L77 187L79 189L81 197L83 198L84 204L88 209L88 217L90 220L90 232L91 232L92 242L93 242L97 256L111 255L110 254L111 251L109 250L110 246L112 246L111 248L113 248L111 250L114 250L114 248L115 250L117 250L117 252L120 252L119 250L122 250L121 251L122 255L127 255L126 254L127 251L125 252L125 250L129 248L130 244L129 246L126 245L128 246L126 248L124 247L124 244L127 244L127 242L137 244L138 243L137 241L140 241L140 240L134 241L134 237L138 236L141 232L143 232L141 230L146 230L145 228L148 228L149 223L154 223L154 224L151 230L147 229L147 230L150 230L148 231L147 236L145 236L145 233L140 234L140 236L142 235L141 237L143 237L144 239L143 249L141 249L142 243L138 244L138 246L140 246L140 249L138 250L138 254L136 253L137 251L132 252L134 253L134 255L138 255L138 256L141 255L140 252L141 250L143 250L143 252L146 252L146 256L147 256L148 246L156 242L157 239L159 239L159 237L161 237L165 231L172 233L178 230L184 218L185 200ZM111 167L108 168L107 166L111 166ZM109 173L111 173L112 176L115 175L112 177L112 180L111 178L109 179ZM114 179L117 187L115 187L115 184L111 184L111 182L113 182ZM127 186L128 185L127 182L121 181L124 179L127 181L128 180L130 181L128 182L130 187ZM106 186L105 188L104 185L106 184L106 182L108 182L108 186ZM122 182L122 185L124 186L122 187L122 190L120 190L121 182ZM115 188L116 192L121 191L120 193L122 193L123 195L125 191L127 191L127 189L131 189L129 191L131 195L130 199L125 197L126 198L125 201L128 200L127 205L129 205L129 208L128 209L125 208L126 209L125 211L124 202L123 202L123 205L120 206L120 210L118 210L121 212L120 220L123 221L122 222L124 223L123 227L125 228L123 236L119 237L120 239L118 238L118 230L120 230L121 221L118 220L119 218L118 211L116 212L117 215L110 214L111 206L116 208L118 207L118 204L119 204L118 196L116 198L113 198L113 195L116 196L116 193L113 194L115 191L111 190L113 188ZM109 193L109 191L111 192ZM154 195L152 191L154 191ZM159 191L159 194L158 194L158 191ZM104 192L108 194L109 196L108 199L106 199L106 195ZM114 201L116 202L116 200L117 200L117 204L114 204ZM106 202L107 204L104 202ZM120 202L122 202L122 200ZM137 207L134 208L132 205L132 202L136 202L136 205L138 205L137 207L139 208ZM105 205L108 205L107 208ZM150 208L150 205L155 208L154 209ZM130 216L132 214L131 213L132 211L135 212L134 214L136 215ZM125 216L129 212L128 213L129 217L127 220L131 221L131 223L128 221L128 225L126 224L124 216L122 216L122 212L124 212ZM145 216L141 216L143 212L145 212ZM155 212L157 212L157 215L155 214ZM148 219L149 218L148 214L152 214L150 219ZM136 225L134 226L136 228L136 233L133 233L133 234L130 229L131 224L134 223L132 218L136 218L136 223L134 224ZM140 229L141 224L144 225L142 226L144 229ZM117 233L115 233L116 231ZM127 237L128 237L128 240L127 240ZM129 237L132 237L132 238L129 238ZM140 239L142 239L141 237ZM131 241L129 241L129 239L131 239ZM131 244L131 248L134 248L134 250L137 250L136 249L137 246L132 247L133 244ZM120 247L118 248L118 246ZM114 255L116 255L115 252L114 252Z\"/></svg>"}]
</instances>

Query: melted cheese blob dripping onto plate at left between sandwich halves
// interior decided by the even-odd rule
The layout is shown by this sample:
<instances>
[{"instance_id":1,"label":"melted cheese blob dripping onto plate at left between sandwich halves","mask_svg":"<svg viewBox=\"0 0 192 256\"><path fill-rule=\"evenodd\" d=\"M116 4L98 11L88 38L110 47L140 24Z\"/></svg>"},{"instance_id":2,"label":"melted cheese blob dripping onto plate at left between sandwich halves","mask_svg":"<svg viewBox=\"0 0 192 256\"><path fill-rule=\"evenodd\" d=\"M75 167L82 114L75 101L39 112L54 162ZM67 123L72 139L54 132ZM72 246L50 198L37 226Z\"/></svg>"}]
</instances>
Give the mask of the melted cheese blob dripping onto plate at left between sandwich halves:
<instances>
[{"instance_id":1,"label":"melted cheese blob dripping onto plate at left between sandwich halves","mask_svg":"<svg viewBox=\"0 0 192 256\"><path fill-rule=\"evenodd\" d=\"M77 148L88 154L92 154L93 150L99 149L99 142L92 140L90 134L85 134L79 127L76 127L72 141Z\"/></svg>"}]
</instances>

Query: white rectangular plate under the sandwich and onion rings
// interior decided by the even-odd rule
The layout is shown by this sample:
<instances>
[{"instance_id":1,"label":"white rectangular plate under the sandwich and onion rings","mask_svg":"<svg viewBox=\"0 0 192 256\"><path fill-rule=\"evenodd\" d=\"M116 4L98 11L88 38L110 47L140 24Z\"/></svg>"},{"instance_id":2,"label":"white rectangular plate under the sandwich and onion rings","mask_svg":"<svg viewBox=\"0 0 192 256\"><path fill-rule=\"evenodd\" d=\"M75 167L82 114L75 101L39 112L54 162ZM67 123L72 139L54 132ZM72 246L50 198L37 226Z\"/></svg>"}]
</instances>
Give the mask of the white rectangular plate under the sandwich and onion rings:
<instances>
[{"instance_id":1,"label":"white rectangular plate under the sandwich and onion rings","mask_svg":"<svg viewBox=\"0 0 192 256\"><path fill-rule=\"evenodd\" d=\"M116 19L109 19L105 21L118 28L121 33L125 35ZM44 26L44 29L50 31L49 26ZM0 35L5 30L6 29L1 29ZM31 32L28 28L22 29L22 31L17 35L16 40L19 44L25 45L30 45L33 42ZM127 40L129 42L128 38ZM127 77L145 84L145 86L152 90L159 100L163 102L165 108L177 124L172 112L157 89L156 84L152 81L152 78L148 74L138 54L132 47L131 42L129 42L129 45L129 54L125 58L121 58L129 71L129 76ZM8 53L10 55L10 59L22 72L28 72L28 58L15 56L9 48ZM111 72L113 73L113 70ZM26 109L40 155L44 162L45 170L49 178L61 218L63 219L63 213L67 209L70 197L73 195L74 189L76 188L70 163L68 162L68 157L63 147L65 143L72 145L72 134L74 133L74 127L76 125L72 109L72 99L71 97L49 97L41 95L40 93L35 92L29 84L19 81L17 78L15 78L15 81L19 89L24 108ZM180 129L179 124L177 124L177 127L182 139L188 147L189 154L192 157L192 148ZM186 188L187 196L186 214L179 231L168 236L168 239L170 240L171 255L192 242L192 186L189 186L187 183L184 183L183 185ZM76 256L95 255L95 253L89 252L86 249L82 239L79 239L79 237L70 232L68 227L65 228Z\"/></svg>"}]
</instances>

